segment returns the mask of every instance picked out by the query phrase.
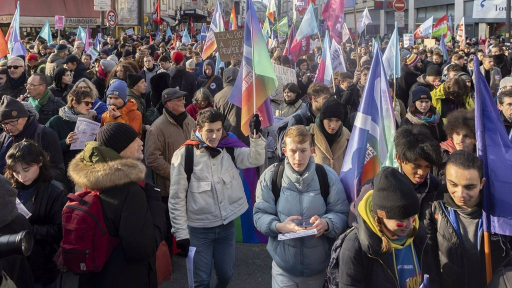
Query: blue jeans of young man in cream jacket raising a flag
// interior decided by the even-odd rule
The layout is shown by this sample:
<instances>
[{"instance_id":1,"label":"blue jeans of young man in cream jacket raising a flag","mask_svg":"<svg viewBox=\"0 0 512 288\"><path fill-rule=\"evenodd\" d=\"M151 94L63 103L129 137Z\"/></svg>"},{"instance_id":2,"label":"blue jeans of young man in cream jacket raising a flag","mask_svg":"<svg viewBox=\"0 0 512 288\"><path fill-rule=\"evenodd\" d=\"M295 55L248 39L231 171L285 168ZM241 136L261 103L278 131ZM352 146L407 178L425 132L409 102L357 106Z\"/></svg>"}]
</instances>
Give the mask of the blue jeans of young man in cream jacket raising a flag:
<instances>
[{"instance_id":1,"label":"blue jeans of young man in cream jacket raising a flag","mask_svg":"<svg viewBox=\"0 0 512 288\"><path fill-rule=\"evenodd\" d=\"M188 226L194 254L194 287L210 288L211 268L215 266L216 288L227 287L234 268L234 222L210 228Z\"/></svg>"}]
</instances>

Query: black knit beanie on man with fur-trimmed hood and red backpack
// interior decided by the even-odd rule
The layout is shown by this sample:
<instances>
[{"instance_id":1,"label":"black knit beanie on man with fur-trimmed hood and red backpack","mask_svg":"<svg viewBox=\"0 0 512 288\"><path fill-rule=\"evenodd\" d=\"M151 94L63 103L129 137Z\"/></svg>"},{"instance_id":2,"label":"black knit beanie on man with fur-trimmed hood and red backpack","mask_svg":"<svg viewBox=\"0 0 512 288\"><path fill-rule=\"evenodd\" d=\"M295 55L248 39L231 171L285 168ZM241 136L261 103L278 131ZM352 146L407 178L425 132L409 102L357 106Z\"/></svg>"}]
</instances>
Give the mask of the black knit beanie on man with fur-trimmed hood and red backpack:
<instances>
[{"instance_id":1,"label":"black knit beanie on man with fur-trimmed hood and red backpack","mask_svg":"<svg viewBox=\"0 0 512 288\"><path fill-rule=\"evenodd\" d=\"M96 140L103 146L121 153L139 136L137 131L123 122L110 122L101 127Z\"/></svg>"}]
</instances>

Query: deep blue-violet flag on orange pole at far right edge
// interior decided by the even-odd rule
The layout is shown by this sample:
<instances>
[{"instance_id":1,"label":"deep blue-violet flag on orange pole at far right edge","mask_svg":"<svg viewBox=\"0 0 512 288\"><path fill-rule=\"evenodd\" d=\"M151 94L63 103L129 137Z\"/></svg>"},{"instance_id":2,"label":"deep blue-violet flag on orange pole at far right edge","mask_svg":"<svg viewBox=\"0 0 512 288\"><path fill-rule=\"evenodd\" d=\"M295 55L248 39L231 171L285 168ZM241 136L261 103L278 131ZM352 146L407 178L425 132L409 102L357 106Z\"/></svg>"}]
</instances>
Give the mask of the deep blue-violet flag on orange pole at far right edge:
<instances>
[{"instance_id":1,"label":"deep blue-violet flag on orange pole at far right edge","mask_svg":"<svg viewBox=\"0 0 512 288\"><path fill-rule=\"evenodd\" d=\"M480 61L475 55L475 67ZM512 236L512 143L480 69L475 70L475 131L482 160L484 232Z\"/></svg>"}]
</instances>

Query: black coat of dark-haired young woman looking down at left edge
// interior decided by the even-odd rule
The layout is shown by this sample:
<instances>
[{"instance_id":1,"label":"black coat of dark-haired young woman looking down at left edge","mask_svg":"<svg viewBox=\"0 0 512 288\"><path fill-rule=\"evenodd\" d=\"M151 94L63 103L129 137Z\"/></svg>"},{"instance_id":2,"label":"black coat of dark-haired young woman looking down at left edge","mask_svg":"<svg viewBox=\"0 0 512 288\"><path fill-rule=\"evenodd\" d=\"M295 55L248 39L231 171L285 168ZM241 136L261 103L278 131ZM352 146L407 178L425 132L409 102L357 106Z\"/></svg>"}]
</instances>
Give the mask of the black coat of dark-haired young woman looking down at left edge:
<instances>
[{"instance_id":1,"label":"black coat of dark-haired young woman looking down at left edge","mask_svg":"<svg viewBox=\"0 0 512 288\"><path fill-rule=\"evenodd\" d=\"M36 283L49 284L57 278L59 270L53 257L62 240L62 209L66 204L66 191L57 181L38 182L33 198L29 222L34 232L34 249L29 256Z\"/></svg>"}]
</instances>

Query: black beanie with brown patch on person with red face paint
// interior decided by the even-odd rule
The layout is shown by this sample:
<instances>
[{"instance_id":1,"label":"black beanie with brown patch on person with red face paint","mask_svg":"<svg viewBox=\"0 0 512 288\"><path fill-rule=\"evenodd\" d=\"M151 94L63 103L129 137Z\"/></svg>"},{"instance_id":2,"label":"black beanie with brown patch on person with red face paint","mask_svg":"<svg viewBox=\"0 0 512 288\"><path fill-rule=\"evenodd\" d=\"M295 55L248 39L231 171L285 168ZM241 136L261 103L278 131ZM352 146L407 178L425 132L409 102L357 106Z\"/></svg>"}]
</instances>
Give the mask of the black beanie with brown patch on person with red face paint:
<instances>
[{"instance_id":1,"label":"black beanie with brown patch on person with red face paint","mask_svg":"<svg viewBox=\"0 0 512 288\"><path fill-rule=\"evenodd\" d=\"M385 219L406 219L419 213L411 180L393 167L382 167L373 178L373 213Z\"/></svg>"}]
</instances>

